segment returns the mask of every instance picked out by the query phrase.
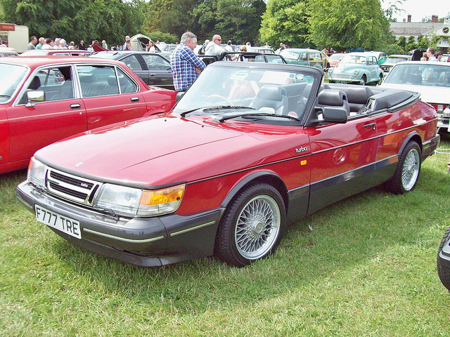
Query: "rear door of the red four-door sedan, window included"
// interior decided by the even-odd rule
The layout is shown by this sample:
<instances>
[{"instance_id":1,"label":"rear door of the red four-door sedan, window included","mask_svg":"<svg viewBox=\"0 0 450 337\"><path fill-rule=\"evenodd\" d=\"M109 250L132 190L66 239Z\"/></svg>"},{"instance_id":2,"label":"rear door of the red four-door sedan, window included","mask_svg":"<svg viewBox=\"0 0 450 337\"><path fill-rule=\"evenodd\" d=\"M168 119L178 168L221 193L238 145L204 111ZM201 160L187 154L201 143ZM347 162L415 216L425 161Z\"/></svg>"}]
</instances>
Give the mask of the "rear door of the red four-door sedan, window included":
<instances>
[{"instance_id":1,"label":"rear door of the red four-door sedan, window included","mask_svg":"<svg viewBox=\"0 0 450 337\"><path fill-rule=\"evenodd\" d=\"M87 129L141 117L146 102L139 84L115 65L77 65Z\"/></svg>"}]
</instances>

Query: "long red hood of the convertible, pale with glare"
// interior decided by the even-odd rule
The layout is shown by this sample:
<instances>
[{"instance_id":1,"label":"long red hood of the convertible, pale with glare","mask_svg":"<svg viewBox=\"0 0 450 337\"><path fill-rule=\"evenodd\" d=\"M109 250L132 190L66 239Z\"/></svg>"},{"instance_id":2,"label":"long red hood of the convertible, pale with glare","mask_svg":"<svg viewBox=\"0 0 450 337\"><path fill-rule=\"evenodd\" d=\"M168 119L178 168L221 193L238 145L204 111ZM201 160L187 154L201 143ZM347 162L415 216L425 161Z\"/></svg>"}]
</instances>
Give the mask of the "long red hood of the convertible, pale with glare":
<instances>
[{"instance_id":1,"label":"long red hood of the convertible, pale with glare","mask_svg":"<svg viewBox=\"0 0 450 337\"><path fill-rule=\"evenodd\" d=\"M86 131L35 156L62 171L94 180L158 187L189 182L295 155L299 127L219 123L164 114ZM289 128L288 128L289 129ZM297 145L300 146L300 145Z\"/></svg>"}]
</instances>

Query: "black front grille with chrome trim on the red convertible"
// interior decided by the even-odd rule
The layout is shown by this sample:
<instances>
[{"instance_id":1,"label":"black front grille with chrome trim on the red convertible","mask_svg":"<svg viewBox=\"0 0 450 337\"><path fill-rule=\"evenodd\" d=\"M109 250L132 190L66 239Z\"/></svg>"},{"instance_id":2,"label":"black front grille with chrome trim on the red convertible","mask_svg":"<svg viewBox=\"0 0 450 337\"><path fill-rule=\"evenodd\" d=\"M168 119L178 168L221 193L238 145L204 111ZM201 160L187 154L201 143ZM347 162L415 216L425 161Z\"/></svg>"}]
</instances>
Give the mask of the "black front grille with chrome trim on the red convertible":
<instances>
[{"instance_id":1,"label":"black front grille with chrome trim on the red convertible","mask_svg":"<svg viewBox=\"0 0 450 337\"><path fill-rule=\"evenodd\" d=\"M58 197L92 206L95 193L101 183L72 174L49 169L46 176L46 188Z\"/></svg>"}]
</instances>

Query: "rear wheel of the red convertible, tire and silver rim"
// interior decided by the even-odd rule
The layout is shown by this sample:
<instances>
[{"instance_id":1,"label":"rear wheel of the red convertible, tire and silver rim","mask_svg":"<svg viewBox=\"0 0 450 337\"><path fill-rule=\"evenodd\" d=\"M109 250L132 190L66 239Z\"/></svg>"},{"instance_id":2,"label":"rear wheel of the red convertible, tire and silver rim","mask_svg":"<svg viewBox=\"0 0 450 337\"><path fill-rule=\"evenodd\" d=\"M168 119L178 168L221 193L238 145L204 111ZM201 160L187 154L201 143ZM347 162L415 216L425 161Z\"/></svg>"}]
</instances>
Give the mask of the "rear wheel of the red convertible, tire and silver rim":
<instances>
[{"instance_id":1,"label":"rear wheel of the red convertible, tire and silver rim","mask_svg":"<svg viewBox=\"0 0 450 337\"><path fill-rule=\"evenodd\" d=\"M404 194L416 187L420 173L420 153L418 143L411 141L406 145L400 154L394 176L386 183L390 192Z\"/></svg>"}]
</instances>

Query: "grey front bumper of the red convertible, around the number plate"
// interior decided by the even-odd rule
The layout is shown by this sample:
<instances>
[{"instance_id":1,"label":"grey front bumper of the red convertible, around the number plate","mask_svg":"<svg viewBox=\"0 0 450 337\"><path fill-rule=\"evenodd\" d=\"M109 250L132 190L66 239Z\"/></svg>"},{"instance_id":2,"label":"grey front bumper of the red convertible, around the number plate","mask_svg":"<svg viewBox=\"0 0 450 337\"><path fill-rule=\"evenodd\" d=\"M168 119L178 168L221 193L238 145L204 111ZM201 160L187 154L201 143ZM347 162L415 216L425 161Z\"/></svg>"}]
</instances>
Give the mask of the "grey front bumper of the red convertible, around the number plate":
<instances>
[{"instance_id":1,"label":"grey front bumper of the red convertible, around the number plate","mask_svg":"<svg viewBox=\"0 0 450 337\"><path fill-rule=\"evenodd\" d=\"M154 218L108 216L70 204L37 190L24 181L16 196L34 213L34 205L79 222L82 239L53 229L64 239L94 253L126 263L153 267L212 256L214 239L224 209L191 216L169 214Z\"/></svg>"}]
</instances>

